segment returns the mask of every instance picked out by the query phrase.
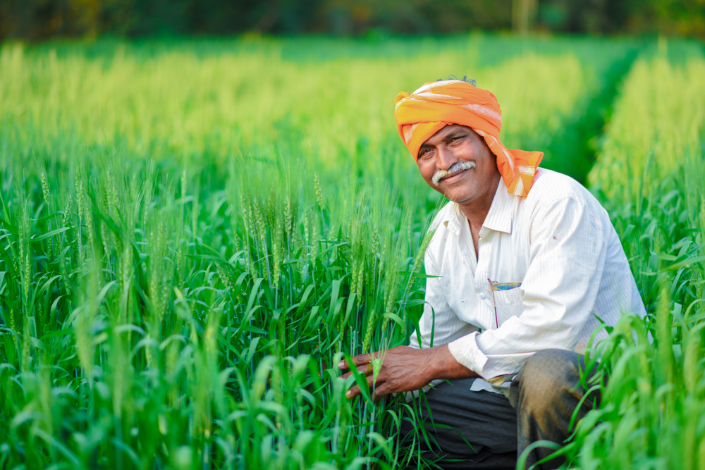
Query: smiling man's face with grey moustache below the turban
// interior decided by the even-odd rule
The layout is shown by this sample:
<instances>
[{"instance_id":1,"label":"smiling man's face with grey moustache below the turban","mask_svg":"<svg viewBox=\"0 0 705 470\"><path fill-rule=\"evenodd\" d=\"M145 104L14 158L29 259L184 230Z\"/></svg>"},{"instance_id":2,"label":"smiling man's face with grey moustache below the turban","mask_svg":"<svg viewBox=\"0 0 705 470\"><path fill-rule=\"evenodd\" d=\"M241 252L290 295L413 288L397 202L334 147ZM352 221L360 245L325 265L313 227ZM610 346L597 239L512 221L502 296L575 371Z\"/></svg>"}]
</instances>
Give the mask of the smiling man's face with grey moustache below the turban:
<instances>
[{"instance_id":1,"label":"smiling man's face with grey moustache below the turban","mask_svg":"<svg viewBox=\"0 0 705 470\"><path fill-rule=\"evenodd\" d=\"M417 165L429 186L461 205L486 197L500 178L484 139L459 124L446 125L424 142Z\"/></svg>"}]
</instances>

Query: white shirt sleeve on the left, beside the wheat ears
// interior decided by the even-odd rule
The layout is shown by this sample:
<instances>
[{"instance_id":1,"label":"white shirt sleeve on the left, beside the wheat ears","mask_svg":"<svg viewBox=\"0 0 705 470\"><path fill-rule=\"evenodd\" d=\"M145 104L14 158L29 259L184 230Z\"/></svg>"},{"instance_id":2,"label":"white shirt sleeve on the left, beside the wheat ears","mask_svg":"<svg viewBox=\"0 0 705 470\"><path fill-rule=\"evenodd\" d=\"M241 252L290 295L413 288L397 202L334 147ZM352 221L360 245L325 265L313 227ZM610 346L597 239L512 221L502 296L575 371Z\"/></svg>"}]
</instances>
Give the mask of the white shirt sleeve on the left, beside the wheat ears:
<instances>
[{"instance_id":1,"label":"white shirt sleeve on the left, beside the wheat ears","mask_svg":"<svg viewBox=\"0 0 705 470\"><path fill-rule=\"evenodd\" d=\"M448 236L445 230L439 229L434 235L436 237ZM436 243L434 243L436 242ZM436 263L436 256L439 251L439 240L433 240L426 250L424 264L426 274L428 276L439 276L439 266ZM441 254L442 256L442 254ZM424 313L419 320L419 338L418 333L414 330L410 338L410 346L419 348L427 348L439 345L446 345L449 342L462 338L463 336L477 330L472 325L465 323L458 318L455 311L450 308L446 295L443 293L440 278L426 279L426 304L424 304ZM420 339L420 341L419 341Z\"/></svg>"}]
</instances>

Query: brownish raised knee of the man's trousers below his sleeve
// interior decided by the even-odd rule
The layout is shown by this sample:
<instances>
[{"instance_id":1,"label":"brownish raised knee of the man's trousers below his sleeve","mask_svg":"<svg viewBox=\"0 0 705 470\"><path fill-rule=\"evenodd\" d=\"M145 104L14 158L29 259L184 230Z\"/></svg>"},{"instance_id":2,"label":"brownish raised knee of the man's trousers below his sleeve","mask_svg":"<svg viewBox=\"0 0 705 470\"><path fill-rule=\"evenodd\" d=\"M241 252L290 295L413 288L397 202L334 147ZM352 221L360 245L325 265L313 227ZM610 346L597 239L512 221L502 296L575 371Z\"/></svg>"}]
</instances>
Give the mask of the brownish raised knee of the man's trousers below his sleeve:
<instances>
[{"instance_id":1,"label":"brownish raised knee of the man's trousers below his sleeve","mask_svg":"<svg viewBox=\"0 0 705 470\"><path fill-rule=\"evenodd\" d=\"M556 407L557 402L572 395L580 400L582 356L573 351L541 350L527 359L512 383L511 399L515 407L534 412Z\"/></svg>"}]
</instances>

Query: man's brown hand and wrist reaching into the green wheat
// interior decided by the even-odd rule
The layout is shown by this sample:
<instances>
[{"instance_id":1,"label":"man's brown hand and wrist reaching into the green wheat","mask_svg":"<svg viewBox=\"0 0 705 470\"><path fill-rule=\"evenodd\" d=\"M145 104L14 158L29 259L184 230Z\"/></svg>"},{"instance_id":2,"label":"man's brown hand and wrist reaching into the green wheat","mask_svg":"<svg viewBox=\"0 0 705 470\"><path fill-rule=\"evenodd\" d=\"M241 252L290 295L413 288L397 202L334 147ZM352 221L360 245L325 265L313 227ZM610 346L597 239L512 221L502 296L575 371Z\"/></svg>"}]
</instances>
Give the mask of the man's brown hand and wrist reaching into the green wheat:
<instances>
[{"instance_id":1,"label":"man's brown hand and wrist reaching into the green wheat","mask_svg":"<svg viewBox=\"0 0 705 470\"><path fill-rule=\"evenodd\" d=\"M450 350L448 350L448 345L424 350L399 346L391 350L360 354L351 358L357 370L367 376L367 385L370 390L372 390L374 382L373 358L381 360L381 368L377 374L376 383L374 383L374 401L390 393L419 390L436 378L477 377L477 373L455 360L453 354L450 354ZM338 368L346 370L350 369L350 366L347 362L341 361ZM345 373L341 378L348 378L350 374L352 372ZM357 395L360 395L360 388L357 385L353 385L345 394L348 398Z\"/></svg>"}]
</instances>

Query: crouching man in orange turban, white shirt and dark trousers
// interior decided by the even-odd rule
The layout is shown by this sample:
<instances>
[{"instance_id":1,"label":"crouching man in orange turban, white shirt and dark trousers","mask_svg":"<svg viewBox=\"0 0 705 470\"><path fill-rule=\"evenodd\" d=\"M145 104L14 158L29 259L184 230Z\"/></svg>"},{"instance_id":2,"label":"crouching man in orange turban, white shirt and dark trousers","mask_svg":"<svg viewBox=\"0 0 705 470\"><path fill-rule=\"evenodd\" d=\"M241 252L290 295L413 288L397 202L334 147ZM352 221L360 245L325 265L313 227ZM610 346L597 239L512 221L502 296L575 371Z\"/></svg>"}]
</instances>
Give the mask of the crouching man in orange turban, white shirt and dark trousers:
<instances>
[{"instance_id":1,"label":"crouching man in orange turban, white shirt and dark trousers","mask_svg":"<svg viewBox=\"0 0 705 470\"><path fill-rule=\"evenodd\" d=\"M431 228L426 272L436 277L420 338L375 354L384 359L375 398L438 384L426 394L427 457L442 468L513 469L531 443L570 435L584 395L580 353L598 318L614 325L644 305L606 211L575 180L538 168L540 152L504 147L494 94L431 82L398 94L395 117L424 180L450 202ZM371 359L353 362L372 388ZM355 385L348 397L359 393ZM537 447L527 466L551 452Z\"/></svg>"}]
</instances>

